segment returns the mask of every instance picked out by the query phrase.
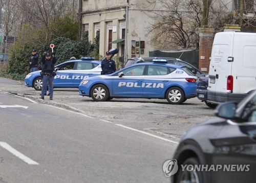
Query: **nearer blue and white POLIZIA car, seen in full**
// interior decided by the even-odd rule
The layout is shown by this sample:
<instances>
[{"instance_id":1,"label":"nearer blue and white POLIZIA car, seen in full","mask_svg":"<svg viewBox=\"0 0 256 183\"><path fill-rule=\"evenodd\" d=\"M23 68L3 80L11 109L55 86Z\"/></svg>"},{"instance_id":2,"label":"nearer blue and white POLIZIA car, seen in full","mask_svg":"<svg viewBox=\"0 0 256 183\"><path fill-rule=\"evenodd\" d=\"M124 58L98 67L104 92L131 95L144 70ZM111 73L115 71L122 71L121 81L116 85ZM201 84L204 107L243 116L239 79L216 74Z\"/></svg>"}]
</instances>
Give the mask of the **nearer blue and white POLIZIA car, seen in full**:
<instances>
[{"instance_id":1,"label":"nearer blue and white POLIZIA car, seen in full","mask_svg":"<svg viewBox=\"0 0 256 183\"><path fill-rule=\"evenodd\" d=\"M168 64L164 59L125 67L110 75L82 80L79 95L94 101L112 98L166 99L181 104L196 97L197 76L185 66Z\"/></svg>"}]
</instances>

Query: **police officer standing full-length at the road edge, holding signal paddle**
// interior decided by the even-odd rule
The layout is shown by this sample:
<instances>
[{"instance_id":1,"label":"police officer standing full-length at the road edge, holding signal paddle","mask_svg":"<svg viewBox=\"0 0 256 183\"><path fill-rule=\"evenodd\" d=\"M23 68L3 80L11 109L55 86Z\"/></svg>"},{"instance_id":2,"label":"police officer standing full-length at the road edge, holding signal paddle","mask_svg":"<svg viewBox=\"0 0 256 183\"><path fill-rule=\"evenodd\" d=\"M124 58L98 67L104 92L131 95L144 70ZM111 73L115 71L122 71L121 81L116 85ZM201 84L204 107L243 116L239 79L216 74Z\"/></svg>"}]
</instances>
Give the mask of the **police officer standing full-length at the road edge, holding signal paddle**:
<instances>
[{"instance_id":1,"label":"police officer standing full-length at the road edge, holding signal paddle","mask_svg":"<svg viewBox=\"0 0 256 183\"><path fill-rule=\"evenodd\" d=\"M42 71L41 71L41 78L42 78L42 90L41 90L41 97L40 99L45 99L45 94L47 92L47 82L49 82L49 94L50 100L53 99L53 79L56 73L54 72L54 64L56 63L56 58L54 55L50 55L49 53L44 53L41 58L42 62Z\"/></svg>"}]
</instances>

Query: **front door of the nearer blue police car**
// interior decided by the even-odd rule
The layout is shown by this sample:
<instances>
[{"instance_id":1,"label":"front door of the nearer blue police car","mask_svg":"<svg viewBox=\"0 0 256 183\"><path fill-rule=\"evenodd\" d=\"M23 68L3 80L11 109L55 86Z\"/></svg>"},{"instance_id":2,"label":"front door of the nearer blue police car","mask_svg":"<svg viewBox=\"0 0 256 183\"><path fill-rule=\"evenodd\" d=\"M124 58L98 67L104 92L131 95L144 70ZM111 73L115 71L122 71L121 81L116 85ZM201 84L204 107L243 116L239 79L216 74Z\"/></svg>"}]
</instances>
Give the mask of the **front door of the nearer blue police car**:
<instances>
[{"instance_id":1,"label":"front door of the nearer blue police car","mask_svg":"<svg viewBox=\"0 0 256 183\"><path fill-rule=\"evenodd\" d=\"M145 65L136 65L119 73L122 77L113 77L113 95L119 97L143 96L143 79Z\"/></svg>"}]
</instances>

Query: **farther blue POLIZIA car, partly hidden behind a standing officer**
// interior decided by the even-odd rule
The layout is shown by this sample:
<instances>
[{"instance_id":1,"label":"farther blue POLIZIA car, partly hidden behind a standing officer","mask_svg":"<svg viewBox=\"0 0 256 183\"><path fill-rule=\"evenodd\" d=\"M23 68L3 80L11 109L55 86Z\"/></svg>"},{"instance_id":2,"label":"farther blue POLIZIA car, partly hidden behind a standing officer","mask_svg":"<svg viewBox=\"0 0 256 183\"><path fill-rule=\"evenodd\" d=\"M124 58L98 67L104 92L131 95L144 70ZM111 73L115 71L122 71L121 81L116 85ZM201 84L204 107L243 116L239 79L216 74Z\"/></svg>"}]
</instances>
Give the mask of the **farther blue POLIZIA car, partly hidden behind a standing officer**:
<instances>
[{"instance_id":1,"label":"farther blue POLIZIA car, partly hidden behind a standing officer","mask_svg":"<svg viewBox=\"0 0 256 183\"><path fill-rule=\"evenodd\" d=\"M78 88L80 82L88 77L100 75L101 62L92 57L82 57L80 60L69 60L55 66L54 88ZM41 90L40 71L29 73L25 77L25 86Z\"/></svg>"}]
</instances>

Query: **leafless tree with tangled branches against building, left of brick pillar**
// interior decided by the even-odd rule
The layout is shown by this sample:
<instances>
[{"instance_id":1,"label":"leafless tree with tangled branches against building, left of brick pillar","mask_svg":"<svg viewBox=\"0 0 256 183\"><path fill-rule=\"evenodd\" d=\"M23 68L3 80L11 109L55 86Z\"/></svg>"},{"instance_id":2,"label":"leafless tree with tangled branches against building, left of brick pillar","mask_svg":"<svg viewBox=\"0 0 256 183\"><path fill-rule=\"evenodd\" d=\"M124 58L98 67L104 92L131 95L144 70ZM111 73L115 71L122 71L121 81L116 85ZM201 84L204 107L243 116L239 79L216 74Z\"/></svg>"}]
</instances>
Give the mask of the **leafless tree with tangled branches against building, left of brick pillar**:
<instances>
[{"instance_id":1,"label":"leafless tree with tangled branches against building, left of brick pillar","mask_svg":"<svg viewBox=\"0 0 256 183\"><path fill-rule=\"evenodd\" d=\"M151 2L153 3L153 2ZM197 0L164 1L154 10L155 22L149 23L148 35L160 49L198 47L198 28L202 25L202 6Z\"/></svg>"}]
</instances>

